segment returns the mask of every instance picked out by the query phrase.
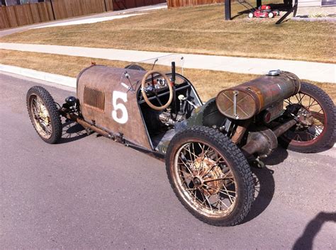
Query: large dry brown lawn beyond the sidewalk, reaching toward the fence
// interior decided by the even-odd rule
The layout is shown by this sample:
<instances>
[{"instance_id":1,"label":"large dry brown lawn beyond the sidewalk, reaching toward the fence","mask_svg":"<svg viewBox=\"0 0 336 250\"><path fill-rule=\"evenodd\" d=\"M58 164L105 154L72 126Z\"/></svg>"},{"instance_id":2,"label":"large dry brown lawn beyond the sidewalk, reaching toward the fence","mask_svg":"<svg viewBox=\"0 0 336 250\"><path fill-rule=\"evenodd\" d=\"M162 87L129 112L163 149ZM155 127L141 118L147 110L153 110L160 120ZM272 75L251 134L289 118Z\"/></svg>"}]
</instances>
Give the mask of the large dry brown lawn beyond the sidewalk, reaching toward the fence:
<instances>
[{"instance_id":1,"label":"large dry brown lawn beyond the sidewalk, reaching toward the fence","mask_svg":"<svg viewBox=\"0 0 336 250\"><path fill-rule=\"evenodd\" d=\"M223 10L223 5L159 10L102 23L28 30L0 41L336 62L335 22L275 25L274 19L248 19L246 14L224 21ZM233 3L233 13L242 10Z\"/></svg>"}]
</instances>

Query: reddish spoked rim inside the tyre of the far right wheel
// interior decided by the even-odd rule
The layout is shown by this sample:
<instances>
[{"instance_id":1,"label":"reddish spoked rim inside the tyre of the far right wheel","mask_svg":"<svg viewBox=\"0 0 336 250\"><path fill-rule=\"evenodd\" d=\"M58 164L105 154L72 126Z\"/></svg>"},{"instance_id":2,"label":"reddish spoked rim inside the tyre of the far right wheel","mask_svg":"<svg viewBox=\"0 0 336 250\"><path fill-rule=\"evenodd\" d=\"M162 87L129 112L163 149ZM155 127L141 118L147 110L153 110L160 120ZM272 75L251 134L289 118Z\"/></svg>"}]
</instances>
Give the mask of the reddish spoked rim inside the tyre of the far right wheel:
<instances>
[{"instance_id":1,"label":"reddish spoked rim inside the tyre of the far right wheel","mask_svg":"<svg viewBox=\"0 0 336 250\"><path fill-rule=\"evenodd\" d=\"M294 126L283 137L294 146L309 146L320 140L326 130L327 115L318 100L307 93L297 93L284 102L288 105L299 104L311 115L313 124L304 128Z\"/></svg>"}]
</instances>

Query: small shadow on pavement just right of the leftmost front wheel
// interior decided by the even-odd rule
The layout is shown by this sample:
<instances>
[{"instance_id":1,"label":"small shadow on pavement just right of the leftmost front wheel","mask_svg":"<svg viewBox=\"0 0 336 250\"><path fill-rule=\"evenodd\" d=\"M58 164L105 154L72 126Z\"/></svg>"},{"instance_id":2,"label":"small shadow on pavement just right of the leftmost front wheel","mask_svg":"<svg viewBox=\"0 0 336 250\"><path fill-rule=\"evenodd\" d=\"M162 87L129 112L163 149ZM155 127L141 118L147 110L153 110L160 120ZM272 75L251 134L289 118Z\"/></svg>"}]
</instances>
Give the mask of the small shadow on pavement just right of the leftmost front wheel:
<instances>
[{"instance_id":1,"label":"small shadow on pavement just right of the leftmost front wheel","mask_svg":"<svg viewBox=\"0 0 336 250\"><path fill-rule=\"evenodd\" d=\"M69 120L65 123L62 123L62 137L58 143L62 144L67 142L74 142L86 136L86 130L84 127L82 127L82 125Z\"/></svg>"}]
</instances>

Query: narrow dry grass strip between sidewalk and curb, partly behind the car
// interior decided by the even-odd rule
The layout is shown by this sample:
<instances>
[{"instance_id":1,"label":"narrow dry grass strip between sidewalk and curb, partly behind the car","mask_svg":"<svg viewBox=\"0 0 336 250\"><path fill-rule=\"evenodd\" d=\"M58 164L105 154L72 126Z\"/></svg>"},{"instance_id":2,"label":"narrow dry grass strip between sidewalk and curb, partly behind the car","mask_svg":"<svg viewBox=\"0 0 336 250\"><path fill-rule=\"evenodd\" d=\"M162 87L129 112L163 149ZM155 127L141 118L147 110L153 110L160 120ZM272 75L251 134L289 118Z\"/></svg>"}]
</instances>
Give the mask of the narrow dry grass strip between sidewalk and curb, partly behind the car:
<instances>
[{"instance_id":1,"label":"narrow dry grass strip between sidewalk and curb, partly behind the car","mask_svg":"<svg viewBox=\"0 0 336 250\"><path fill-rule=\"evenodd\" d=\"M72 77L76 77L81 69L87 67L91 62L112 67L125 67L129 64L129 62L89 57L69 57L64 55L0 50L1 64L9 64ZM150 69L151 65L142 64L142 67ZM157 66L155 69L169 71L169 67L164 66ZM203 101L207 101L209 98L215 96L218 91L222 89L241 84L244 81L249 81L257 77L257 75L254 74L237 74L199 69L184 69L184 76L194 84ZM335 84L312 83L324 89L332 97L333 101L336 102Z\"/></svg>"}]
</instances>

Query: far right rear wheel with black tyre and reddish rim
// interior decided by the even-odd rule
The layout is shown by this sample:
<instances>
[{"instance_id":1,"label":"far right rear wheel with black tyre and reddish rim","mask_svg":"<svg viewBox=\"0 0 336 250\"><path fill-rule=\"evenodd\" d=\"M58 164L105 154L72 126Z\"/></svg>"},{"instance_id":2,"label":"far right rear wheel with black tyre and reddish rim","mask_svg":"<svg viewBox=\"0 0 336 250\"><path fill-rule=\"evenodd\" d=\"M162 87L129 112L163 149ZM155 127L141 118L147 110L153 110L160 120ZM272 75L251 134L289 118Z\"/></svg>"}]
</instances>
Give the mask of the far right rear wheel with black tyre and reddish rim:
<instances>
[{"instance_id":1,"label":"far right rear wheel with black tyre and reddish rim","mask_svg":"<svg viewBox=\"0 0 336 250\"><path fill-rule=\"evenodd\" d=\"M303 82L299 93L284 102L298 106L299 119L309 123L298 123L286 131L279 138L282 145L296 152L313 153L335 143L335 105L325 91Z\"/></svg>"}]
</instances>

